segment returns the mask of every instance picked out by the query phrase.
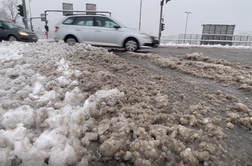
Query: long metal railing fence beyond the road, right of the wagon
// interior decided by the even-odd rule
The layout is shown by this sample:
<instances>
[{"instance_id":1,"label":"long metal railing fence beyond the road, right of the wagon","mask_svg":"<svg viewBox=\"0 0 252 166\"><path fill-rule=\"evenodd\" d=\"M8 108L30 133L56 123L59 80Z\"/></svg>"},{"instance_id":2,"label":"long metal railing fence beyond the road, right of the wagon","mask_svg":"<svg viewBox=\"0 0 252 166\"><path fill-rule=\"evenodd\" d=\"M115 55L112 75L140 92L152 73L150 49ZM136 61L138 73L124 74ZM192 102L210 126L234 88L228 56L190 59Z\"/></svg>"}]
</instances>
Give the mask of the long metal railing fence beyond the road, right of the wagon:
<instances>
[{"instance_id":1,"label":"long metal railing fence beyond the road, right of the wagon","mask_svg":"<svg viewBox=\"0 0 252 166\"><path fill-rule=\"evenodd\" d=\"M227 35L227 34L179 34L178 38L161 38L162 44L192 44L192 45L234 45L252 46L250 35Z\"/></svg>"}]
</instances>

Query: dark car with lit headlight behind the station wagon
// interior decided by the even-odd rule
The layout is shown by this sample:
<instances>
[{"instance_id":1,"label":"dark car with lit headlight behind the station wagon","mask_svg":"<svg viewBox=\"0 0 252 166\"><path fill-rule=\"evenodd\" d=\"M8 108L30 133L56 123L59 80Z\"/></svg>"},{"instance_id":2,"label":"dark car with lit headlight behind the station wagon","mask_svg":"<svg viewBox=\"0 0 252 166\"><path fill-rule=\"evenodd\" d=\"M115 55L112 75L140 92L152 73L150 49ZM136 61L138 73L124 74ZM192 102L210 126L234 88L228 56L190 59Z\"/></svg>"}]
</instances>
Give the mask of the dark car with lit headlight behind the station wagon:
<instances>
[{"instance_id":1,"label":"dark car with lit headlight behind the station wagon","mask_svg":"<svg viewBox=\"0 0 252 166\"><path fill-rule=\"evenodd\" d=\"M9 21L0 20L0 41L37 42L37 35Z\"/></svg>"}]
</instances>

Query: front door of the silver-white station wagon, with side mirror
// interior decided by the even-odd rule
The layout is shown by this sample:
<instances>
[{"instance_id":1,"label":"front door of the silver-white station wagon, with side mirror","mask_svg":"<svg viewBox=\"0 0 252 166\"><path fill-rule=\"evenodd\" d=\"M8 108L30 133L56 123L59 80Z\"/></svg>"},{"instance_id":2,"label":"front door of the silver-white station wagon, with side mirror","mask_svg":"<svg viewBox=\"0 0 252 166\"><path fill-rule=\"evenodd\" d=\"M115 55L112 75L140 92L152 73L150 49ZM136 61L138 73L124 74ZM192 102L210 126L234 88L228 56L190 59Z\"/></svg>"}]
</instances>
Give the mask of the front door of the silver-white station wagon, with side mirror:
<instances>
[{"instance_id":1,"label":"front door of the silver-white station wagon, with side mirror","mask_svg":"<svg viewBox=\"0 0 252 166\"><path fill-rule=\"evenodd\" d=\"M95 39L99 45L121 46L123 32L120 28L115 28L115 26L118 26L117 23L102 16L96 16L94 21Z\"/></svg>"}]
</instances>

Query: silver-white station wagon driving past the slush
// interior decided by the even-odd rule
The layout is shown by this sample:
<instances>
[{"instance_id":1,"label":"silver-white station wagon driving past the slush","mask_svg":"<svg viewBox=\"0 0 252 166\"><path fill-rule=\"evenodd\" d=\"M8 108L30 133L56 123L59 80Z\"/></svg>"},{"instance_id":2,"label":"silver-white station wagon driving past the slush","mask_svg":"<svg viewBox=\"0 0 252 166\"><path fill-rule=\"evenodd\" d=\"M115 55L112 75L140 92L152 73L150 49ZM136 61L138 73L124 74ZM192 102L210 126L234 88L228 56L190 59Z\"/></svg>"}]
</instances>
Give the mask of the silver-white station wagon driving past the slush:
<instances>
[{"instance_id":1,"label":"silver-white station wagon driving past the slush","mask_svg":"<svg viewBox=\"0 0 252 166\"><path fill-rule=\"evenodd\" d=\"M136 51L143 46L154 47L154 37L127 28L105 15L71 15L55 27L55 41L69 45L86 43L94 46L122 47Z\"/></svg>"}]
</instances>

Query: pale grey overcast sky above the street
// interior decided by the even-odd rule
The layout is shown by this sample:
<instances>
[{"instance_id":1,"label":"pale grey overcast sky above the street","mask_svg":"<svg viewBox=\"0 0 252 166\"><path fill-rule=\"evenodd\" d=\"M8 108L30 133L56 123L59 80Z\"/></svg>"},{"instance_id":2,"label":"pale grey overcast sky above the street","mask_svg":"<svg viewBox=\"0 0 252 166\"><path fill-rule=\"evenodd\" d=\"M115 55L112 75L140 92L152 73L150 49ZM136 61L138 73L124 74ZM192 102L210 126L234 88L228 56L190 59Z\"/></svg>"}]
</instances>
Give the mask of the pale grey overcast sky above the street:
<instances>
[{"instance_id":1,"label":"pale grey overcast sky above the street","mask_svg":"<svg viewBox=\"0 0 252 166\"><path fill-rule=\"evenodd\" d=\"M0 0L2 1L2 0ZM160 16L160 0L142 0L143 32L157 35ZM21 0L19 0L21 3ZM29 9L28 0L27 7ZM62 2L73 3L74 10L85 10L86 3L97 4L97 10L108 10L112 17L128 27L138 29L140 0L31 0L32 16L39 16L46 9L62 9ZM184 33L186 14L190 11L187 33L201 33L202 24L235 24L235 33L252 31L252 0L171 0L164 5L165 31L163 36ZM62 14L49 13L50 30L62 18ZM35 27L43 27L34 20Z\"/></svg>"}]
</instances>

